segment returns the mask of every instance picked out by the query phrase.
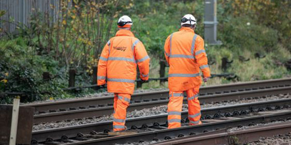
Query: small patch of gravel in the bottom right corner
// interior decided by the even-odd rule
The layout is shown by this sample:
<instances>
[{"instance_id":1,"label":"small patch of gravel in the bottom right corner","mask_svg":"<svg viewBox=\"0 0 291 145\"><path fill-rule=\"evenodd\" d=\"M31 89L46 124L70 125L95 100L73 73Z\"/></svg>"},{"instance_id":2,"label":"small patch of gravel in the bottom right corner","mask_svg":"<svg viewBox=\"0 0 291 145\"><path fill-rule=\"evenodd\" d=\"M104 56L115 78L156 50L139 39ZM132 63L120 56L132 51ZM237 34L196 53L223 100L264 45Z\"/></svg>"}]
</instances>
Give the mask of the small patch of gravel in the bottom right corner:
<instances>
[{"instance_id":1,"label":"small patch of gravel in the bottom right corner","mask_svg":"<svg viewBox=\"0 0 291 145\"><path fill-rule=\"evenodd\" d=\"M291 132L275 137L260 138L257 142L250 142L245 145L291 145Z\"/></svg>"}]
</instances>

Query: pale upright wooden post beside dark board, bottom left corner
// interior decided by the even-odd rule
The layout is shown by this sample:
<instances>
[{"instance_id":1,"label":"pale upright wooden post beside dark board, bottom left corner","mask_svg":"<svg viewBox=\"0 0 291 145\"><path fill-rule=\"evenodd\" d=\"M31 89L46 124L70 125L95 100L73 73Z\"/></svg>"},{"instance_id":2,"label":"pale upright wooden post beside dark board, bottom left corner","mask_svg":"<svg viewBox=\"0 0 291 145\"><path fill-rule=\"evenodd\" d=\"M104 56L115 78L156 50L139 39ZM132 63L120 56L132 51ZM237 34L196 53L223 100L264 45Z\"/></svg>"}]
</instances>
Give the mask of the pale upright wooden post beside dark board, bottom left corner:
<instances>
[{"instance_id":1,"label":"pale upright wooden post beside dark board, bottom left corner","mask_svg":"<svg viewBox=\"0 0 291 145\"><path fill-rule=\"evenodd\" d=\"M19 96L13 100L12 119L11 119L11 131L9 145L16 145L18 113L19 113Z\"/></svg>"}]
</instances>

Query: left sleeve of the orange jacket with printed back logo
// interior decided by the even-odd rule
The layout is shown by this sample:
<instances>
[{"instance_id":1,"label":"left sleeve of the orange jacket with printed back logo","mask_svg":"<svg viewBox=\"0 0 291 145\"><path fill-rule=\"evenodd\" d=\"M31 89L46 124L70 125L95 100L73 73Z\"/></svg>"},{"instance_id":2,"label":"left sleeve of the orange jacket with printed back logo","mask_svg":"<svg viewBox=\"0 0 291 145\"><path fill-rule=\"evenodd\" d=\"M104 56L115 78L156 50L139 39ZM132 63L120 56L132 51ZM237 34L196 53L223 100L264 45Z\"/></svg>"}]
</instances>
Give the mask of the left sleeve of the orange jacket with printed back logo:
<instances>
[{"instance_id":1,"label":"left sleeve of the orange jacket with printed back logo","mask_svg":"<svg viewBox=\"0 0 291 145\"><path fill-rule=\"evenodd\" d=\"M110 40L105 44L98 61L97 85L106 83L107 59L109 57Z\"/></svg>"}]
</instances>

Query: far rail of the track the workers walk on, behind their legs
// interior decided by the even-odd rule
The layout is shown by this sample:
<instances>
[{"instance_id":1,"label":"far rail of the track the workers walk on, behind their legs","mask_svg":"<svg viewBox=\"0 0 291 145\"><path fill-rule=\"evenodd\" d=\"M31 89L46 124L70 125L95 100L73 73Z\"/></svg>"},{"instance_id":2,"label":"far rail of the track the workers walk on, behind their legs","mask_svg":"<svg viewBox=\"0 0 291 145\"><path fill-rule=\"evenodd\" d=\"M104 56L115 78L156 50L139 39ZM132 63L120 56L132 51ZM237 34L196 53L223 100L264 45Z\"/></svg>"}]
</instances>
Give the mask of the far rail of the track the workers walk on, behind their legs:
<instances>
[{"instance_id":1,"label":"far rail of the track the workers walk on, behind their legs","mask_svg":"<svg viewBox=\"0 0 291 145\"><path fill-rule=\"evenodd\" d=\"M244 115L251 111L263 111L266 108L268 109L280 109L289 106L291 104L291 99L283 100L274 100L274 101L265 101L265 102L252 102L252 103L243 103L238 105L229 105L229 106L220 106L220 107L211 107L201 109L202 118L206 116L210 117L219 117L220 115L231 116L231 115ZM188 116L187 111L181 113L183 120L186 120ZM126 126L128 128L141 128L143 126L153 126L154 124L165 124L167 120L167 114L160 114L154 116L144 116L144 117L135 117L128 118L126 121ZM203 120L202 120L203 121ZM105 121L93 124L85 124L79 126L55 128L48 130L40 130L32 132L32 139L37 140L38 142L45 141L47 138L53 140L59 139L61 136L65 135L68 138L75 137L79 132L89 134L91 131L103 132L109 131L112 128L112 121Z\"/></svg>"}]
</instances>

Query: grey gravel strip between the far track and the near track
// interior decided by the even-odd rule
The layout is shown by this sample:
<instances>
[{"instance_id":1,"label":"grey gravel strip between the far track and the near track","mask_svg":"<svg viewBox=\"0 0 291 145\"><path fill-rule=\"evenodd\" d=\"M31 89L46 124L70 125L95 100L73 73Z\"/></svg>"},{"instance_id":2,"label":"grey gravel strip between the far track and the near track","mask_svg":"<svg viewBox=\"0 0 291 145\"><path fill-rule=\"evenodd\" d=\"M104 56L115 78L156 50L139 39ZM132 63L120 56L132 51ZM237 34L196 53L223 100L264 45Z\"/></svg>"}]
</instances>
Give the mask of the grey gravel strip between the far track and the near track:
<instances>
[{"instance_id":1,"label":"grey gravel strip between the far track and the near track","mask_svg":"<svg viewBox=\"0 0 291 145\"><path fill-rule=\"evenodd\" d=\"M268 101L268 100L287 99L287 98L291 98L291 94L286 94L286 95L280 94L280 95L273 95L269 97L258 97L258 98L248 98L248 99L241 99L241 100L234 100L234 101L224 101L220 103L211 102L211 103L202 104L201 108L233 105L233 104L240 104L240 103L247 103L247 102L261 102L261 101ZM182 110L183 111L188 110L188 105L183 104ZM143 110L135 110L132 112L128 112L127 118L166 114L167 113L166 111L167 111L167 105L162 105L158 107L146 108ZM48 123L33 125L32 130L33 131L45 130L45 129L76 126L76 125L97 123L97 122L110 121L110 120L113 120L112 115L110 116L107 115L107 116L102 116L102 117L72 119L70 121L48 122Z\"/></svg>"}]
</instances>

